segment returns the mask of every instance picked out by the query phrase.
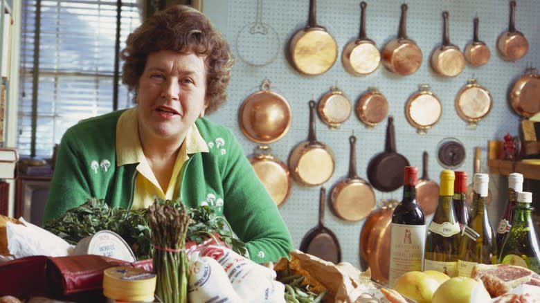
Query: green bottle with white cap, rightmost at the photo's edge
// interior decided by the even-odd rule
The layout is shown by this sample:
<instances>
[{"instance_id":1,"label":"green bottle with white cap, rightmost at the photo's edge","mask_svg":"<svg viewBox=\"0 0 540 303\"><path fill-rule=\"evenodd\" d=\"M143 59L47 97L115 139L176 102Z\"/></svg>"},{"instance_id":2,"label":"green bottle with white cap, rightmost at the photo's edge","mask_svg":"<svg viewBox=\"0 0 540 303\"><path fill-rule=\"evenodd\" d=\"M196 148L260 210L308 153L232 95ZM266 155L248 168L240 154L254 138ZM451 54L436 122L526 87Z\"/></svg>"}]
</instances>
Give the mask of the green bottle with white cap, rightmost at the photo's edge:
<instances>
[{"instance_id":1,"label":"green bottle with white cap, rightmost at the photo's edge","mask_svg":"<svg viewBox=\"0 0 540 303\"><path fill-rule=\"evenodd\" d=\"M531 192L518 192L514 221L501 249L499 261L519 265L540 274L539 239L532 223Z\"/></svg>"}]
</instances>

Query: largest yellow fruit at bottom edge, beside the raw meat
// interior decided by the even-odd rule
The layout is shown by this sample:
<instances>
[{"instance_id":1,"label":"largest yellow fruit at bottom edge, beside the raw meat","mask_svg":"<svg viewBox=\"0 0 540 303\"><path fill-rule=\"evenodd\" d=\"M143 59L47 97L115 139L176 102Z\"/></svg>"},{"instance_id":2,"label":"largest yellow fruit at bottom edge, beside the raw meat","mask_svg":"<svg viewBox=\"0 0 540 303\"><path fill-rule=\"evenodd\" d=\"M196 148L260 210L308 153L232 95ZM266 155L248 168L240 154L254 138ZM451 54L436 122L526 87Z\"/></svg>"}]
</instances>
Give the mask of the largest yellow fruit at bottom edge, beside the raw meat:
<instances>
[{"instance_id":1,"label":"largest yellow fruit at bottom edge, beside the raw meat","mask_svg":"<svg viewBox=\"0 0 540 303\"><path fill-rule=\"evenodd\" d=\"M433 293L433 303L491 302L492 298L480 280L453 277Z\"/></svg>"}]
</instances>

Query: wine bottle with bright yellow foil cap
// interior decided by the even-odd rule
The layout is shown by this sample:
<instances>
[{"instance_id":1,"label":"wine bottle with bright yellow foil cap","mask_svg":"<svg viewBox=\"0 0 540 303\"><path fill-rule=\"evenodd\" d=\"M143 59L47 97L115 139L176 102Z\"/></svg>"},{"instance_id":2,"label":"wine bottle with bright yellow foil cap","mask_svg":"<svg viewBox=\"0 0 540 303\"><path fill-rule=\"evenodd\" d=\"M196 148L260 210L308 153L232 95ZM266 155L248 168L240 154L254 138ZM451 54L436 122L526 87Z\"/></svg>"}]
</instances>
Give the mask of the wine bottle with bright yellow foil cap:
<instances>
[{"instance_id":1,"label":"wine bottle with bright yellow foil cap","mask_svg":"<svg viewBox=\"0 0 540 303\"><path fill-rule=\"evenodd\" d=\"M449 277L458 275L460 225L453 210L453 171L440 173L439 205L429 224L424 252L424 270L438 270Z\"/></svg>"}]
</instances>

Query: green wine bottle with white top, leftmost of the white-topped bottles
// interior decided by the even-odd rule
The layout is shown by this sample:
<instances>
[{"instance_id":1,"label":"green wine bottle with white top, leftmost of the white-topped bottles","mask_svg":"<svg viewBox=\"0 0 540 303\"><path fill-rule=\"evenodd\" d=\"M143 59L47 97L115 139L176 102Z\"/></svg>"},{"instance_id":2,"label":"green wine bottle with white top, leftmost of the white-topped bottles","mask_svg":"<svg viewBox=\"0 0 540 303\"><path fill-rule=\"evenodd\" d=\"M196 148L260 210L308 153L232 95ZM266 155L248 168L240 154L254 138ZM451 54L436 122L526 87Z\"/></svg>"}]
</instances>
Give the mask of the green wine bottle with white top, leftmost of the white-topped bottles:
<instances>
[{"instance_id":1,"label":"green wine bottle with white top, leftmost of the white-topped bottles","mask_svg":"<svg viewBox=\"0 0 540 303\"><path fill-rule=\"evenodd\" d=\"M461 232L458 270L460 276L471 277L474 266L497 263L497 244L492 224L489 223L485 202L489 184L488 174L474 174L474 196L471 217Z\"/></svg>"}]
</instances>

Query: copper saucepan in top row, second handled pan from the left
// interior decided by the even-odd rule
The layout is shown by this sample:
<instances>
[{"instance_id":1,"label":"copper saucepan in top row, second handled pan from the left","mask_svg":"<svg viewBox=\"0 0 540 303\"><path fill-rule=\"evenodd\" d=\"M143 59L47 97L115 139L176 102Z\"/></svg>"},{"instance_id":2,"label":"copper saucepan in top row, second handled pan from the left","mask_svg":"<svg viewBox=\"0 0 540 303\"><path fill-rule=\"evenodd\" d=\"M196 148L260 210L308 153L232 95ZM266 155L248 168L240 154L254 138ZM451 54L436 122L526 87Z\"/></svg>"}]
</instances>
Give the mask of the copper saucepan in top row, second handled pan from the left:
<instances>
[{"instance_id":1,"label":"copper saucepan in top row, second handled pan from the left","mask_svg":"<svg viewBox=\"0 0 540 303\"><path fill-rule=\"evenodd\" d=\"M357 39L349 42L341 54L345 71L361 76L373 73L381 63L381 53L373 40L366 36L366 1L361 1L360 33Z\"/></svg>"}]
</instances>

